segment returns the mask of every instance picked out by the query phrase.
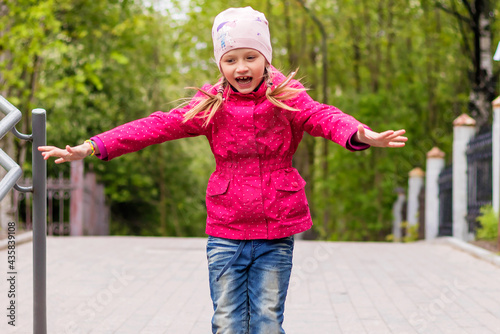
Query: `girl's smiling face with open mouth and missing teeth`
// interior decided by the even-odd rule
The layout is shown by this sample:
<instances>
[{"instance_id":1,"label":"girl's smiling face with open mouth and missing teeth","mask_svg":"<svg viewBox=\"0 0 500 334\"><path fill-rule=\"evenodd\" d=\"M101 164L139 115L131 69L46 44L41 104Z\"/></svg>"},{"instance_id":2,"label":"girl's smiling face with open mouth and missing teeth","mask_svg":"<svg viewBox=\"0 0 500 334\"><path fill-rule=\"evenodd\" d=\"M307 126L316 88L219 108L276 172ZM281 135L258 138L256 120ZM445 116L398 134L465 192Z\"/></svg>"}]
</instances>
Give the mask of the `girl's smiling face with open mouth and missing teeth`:
<instances>
[{"instance_id":1,"label":"girl's smiling face with open mouth and missing teeth","mask_svg":"<svg viewBox=\"0 0 500 334\"><path fill-rule=\"evenodd\" d=\"M266 58L254 49L234 49L220 60L222 75L238 92L249 94L261 83Z\"/></svg>"}]
</instances>

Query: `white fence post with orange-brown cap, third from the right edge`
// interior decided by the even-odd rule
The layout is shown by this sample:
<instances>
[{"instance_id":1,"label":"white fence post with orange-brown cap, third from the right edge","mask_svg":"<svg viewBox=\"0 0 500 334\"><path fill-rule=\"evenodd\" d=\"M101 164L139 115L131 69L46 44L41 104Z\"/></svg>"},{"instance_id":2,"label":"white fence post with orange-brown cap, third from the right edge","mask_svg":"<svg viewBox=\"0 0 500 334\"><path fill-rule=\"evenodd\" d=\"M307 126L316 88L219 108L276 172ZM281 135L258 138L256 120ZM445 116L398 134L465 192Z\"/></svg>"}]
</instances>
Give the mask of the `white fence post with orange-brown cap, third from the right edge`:
<instances>
[{"instance_id":1,"label":"white fence post with orange-brown cap, third from the right edge","mask_svg":"<svg viewBox=\"0 0 500 334\"><path fill-rule=\"evenodd\" d=\"M444 168L444 152L434 147L427 153L425 171L425 240L439 232L439 173Z\"/></svg>"}]
</instances>

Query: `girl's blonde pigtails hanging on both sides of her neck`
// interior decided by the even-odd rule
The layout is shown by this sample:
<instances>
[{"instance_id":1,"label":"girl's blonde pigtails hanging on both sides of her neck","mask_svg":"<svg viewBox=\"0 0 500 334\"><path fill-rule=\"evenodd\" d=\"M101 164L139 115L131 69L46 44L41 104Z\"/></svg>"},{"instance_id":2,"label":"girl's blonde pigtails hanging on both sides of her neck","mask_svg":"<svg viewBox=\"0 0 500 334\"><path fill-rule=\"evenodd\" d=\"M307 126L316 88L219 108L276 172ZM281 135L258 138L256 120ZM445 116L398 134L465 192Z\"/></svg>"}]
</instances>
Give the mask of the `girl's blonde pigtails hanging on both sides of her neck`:
<instances>
[{"instance_id":1,"label":"girl's blonde pigtails hanging on both sides of her neck","mask_svg":"<svg viewBox=\"0 0 500 334\"><path fill-rule=\"evenodd\" d=\"M266 66L266 70L264 72L264 81L267 84L266 98L269 102L279 108L291 111L297 110L286 105L283 102L296 97L298 94L306 90L305 88L294 88L290 85L290 82L295 77L297 71L298 69L290 73L281 84L279 84L275 89L272 89L272 70L270 66ZM222 107L222 104L224 103L224 92L228 86L229 82L226 78L223 77L222 80L215 85L215 87L217 87L217 94L211 94L197 87L187 87L189 89L196 89L205 96L200 100L198 104L196 104L184 115L183 122L187 122L190 119L198 116L198 114L201 114L200 117L205 118L203 126L208 126L215 113Z\"/></svg>"}]
</instances>

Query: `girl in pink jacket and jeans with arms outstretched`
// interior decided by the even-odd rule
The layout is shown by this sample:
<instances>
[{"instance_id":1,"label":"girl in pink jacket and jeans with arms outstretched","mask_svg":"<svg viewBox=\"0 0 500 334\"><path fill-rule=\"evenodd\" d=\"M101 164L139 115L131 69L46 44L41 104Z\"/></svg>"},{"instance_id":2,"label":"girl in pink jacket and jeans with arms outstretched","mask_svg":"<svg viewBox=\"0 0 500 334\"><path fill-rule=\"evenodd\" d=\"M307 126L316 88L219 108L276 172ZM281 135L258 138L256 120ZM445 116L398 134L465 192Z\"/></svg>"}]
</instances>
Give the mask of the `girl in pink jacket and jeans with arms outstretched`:
<instances>
[{"instance_id":1,"label":"girl in pink jacket and jeans with arms outstretched","mask_svg":"<svg viewBox=\"0 0 500 334\"><path fill-rule=\"evenodd\" d=\"M264 14L230 8L215 18L212 39L222 79L191 102L155 112L59 149L56 163L96 155L111 160L148 145L206 136L216 169L207 187L207 259L213 333L284 333L285 298L296 233L312 225L305 181L292 167L303 132L351 151L402 147L404 130L377 133L339 109L315 102L292 73L273 66Z\"/></svg>"}]
</instances>

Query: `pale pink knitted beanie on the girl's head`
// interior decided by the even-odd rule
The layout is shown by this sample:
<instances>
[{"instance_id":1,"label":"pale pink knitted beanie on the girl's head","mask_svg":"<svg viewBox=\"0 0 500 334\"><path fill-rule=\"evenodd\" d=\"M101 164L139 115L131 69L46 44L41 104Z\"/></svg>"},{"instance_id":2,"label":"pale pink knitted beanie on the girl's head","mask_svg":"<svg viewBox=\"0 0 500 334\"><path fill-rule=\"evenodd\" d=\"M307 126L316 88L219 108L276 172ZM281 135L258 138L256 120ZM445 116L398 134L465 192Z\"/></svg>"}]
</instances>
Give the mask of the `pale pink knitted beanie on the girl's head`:
<instances>
[{"instance_id":1,"label":"pale pink knitted beanie on the girl's head","mask_svg":"<svg viewBox=\"0 0 500 334\"><path fill-rule=\"evenodd\" d=\"M215 17L212 27L214 55L220 70L220 59L233 49L250 48L262 53L271 64L273 49L266 17L252 7L229 8Z\"/></svg>"}]
</instances>

